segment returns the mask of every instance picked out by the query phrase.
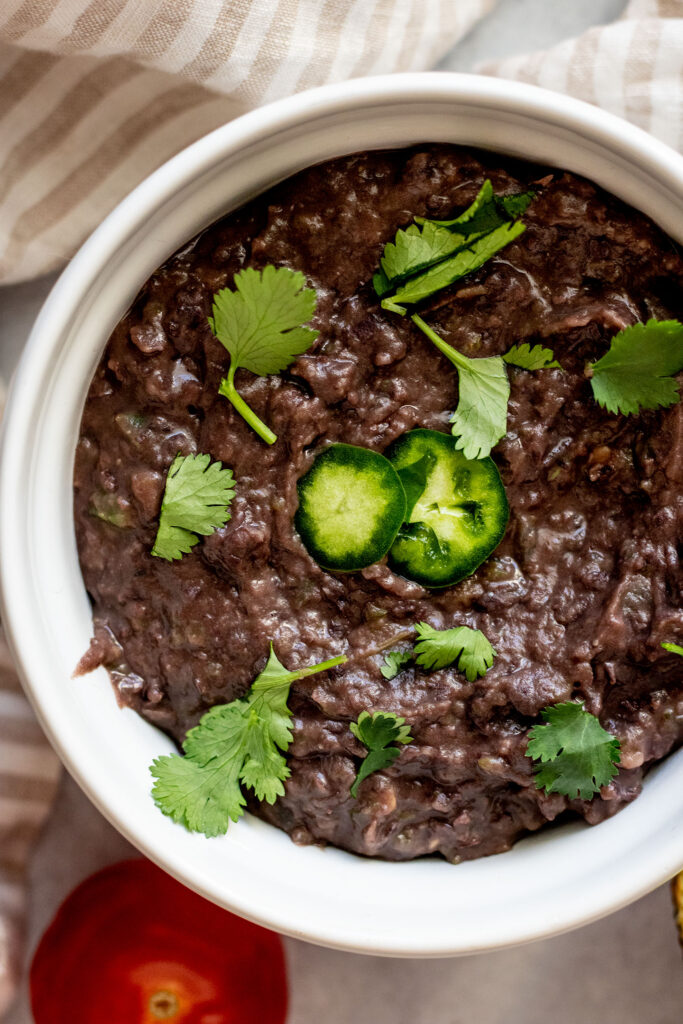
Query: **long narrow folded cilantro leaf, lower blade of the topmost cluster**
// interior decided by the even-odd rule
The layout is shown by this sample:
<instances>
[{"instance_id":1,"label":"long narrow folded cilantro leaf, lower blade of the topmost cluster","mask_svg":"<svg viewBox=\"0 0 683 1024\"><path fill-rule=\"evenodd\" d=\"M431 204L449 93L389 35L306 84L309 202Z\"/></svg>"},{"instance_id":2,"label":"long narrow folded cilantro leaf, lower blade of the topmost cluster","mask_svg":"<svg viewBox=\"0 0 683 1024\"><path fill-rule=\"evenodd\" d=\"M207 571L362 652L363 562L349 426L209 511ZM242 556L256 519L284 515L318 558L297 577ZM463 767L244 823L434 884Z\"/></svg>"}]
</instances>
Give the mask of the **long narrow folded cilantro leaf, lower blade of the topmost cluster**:
<instances>
[{"instance_id":1,"label":"long narrow folded cilantro leaf, lower blade of the topmost cluster","mask_svg":"<svg viewBox=\"0 0 683 1024\"><path fill-rule=\"evenodd\" d=\"M411 278L405 284L400 285L393 295L385 296L382 299L382 308L403 315L407 305L422 302L434 292L439 292L466 274L478 270L492 256L524 230L522 222L515 220L476 238L475 241L468 240L467 248L460 249L454 256Z\"/></svg>"}]
</instances>

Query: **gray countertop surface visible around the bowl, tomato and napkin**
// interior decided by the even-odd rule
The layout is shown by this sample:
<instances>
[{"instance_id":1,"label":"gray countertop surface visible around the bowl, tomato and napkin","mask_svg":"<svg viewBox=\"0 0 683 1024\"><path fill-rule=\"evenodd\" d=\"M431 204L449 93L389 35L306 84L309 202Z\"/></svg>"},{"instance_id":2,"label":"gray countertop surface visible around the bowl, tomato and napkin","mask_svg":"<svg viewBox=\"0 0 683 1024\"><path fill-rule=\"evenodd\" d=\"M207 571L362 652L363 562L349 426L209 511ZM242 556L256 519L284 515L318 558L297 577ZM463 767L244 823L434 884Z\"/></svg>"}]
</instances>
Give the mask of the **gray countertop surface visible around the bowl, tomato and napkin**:
<instances>
[{"instance_id":1,"label":"gray countertop surface visible around the bowl, tomato and napkin","mask_svg":"<svg viewBox=\"0 0 683 1024\"><path fill-rule=\"evenodd\" d=\"M611 20L624 6L624 0L501 0L440 67L470 71L480 60L552 45ZM0 289L0 375L13 367L52 280ZM65 776L30 869L30 947L79 881L133 852ZM457 961L398 962L286 944L289 1024L677 1024L683 1017L666 887L569 935ZM8 1024L30 1022L23 994Z\"/></svg>"}]
</instances>

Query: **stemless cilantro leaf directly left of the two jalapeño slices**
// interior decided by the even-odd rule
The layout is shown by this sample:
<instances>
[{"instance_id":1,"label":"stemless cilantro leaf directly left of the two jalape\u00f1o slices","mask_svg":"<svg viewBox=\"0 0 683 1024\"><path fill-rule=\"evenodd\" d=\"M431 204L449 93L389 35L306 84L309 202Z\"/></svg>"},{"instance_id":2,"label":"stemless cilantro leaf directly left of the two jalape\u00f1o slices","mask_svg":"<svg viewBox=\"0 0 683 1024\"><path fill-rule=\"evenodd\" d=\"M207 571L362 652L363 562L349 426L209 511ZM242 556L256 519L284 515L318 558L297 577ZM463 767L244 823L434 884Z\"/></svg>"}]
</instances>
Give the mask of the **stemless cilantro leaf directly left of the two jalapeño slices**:
<instances>
[{"instance_id":1,"label":"stemless cilantro leaf directly left of the two jalape\u00f1o slices","mask_svg":"<svg viewBox=\"0 0 683 1024\"><path fill-rule=\"evenodd\" d=\"M230 518L234 498L232 470L210 455L178 455L166 475L159 529L152 554L173 561Z\"/></svg>"}]
</instances>

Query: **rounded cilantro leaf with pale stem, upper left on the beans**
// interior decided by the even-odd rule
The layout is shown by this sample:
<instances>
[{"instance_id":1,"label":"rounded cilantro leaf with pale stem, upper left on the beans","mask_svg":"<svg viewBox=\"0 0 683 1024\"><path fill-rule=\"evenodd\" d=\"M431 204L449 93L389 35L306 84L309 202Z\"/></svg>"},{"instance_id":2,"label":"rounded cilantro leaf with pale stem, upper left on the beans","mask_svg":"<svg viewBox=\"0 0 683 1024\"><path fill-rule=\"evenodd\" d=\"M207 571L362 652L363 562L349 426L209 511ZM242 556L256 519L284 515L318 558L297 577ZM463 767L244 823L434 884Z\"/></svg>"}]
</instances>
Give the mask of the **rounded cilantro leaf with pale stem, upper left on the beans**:
<instances>
[{"instance_id":1,"label":"rounded cilantro leaf with pale stem, upper left on the beans","mask_svg":"<svg viewBox=\"0 0 683 1024\"><path fill-rule=\"evenodd\" d=\"M238 394L234 374L241 367L261 377L278 374L312 345L318 332L302 325L315 312L315 291L305 283L287 267L247 267L234 275L234 291L221 288L213 297L209 326L230 353L219 392L268 444L278 437Z\"/></svg>"}]
</instances>

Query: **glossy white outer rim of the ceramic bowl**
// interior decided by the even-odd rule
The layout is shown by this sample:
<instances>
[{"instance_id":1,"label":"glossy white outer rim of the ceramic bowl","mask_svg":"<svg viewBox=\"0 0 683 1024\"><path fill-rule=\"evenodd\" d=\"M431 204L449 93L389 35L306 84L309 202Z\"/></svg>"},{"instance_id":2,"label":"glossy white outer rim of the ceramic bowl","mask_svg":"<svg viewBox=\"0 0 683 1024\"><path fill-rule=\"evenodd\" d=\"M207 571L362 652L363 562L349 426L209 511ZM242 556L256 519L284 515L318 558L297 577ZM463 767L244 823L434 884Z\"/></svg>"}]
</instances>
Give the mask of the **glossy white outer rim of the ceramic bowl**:
<instances>
[{"instance_id":1,"label":"glossy white outer rim of the ceramic bowl","mask_svg":"<svg viewBox=\"0 0 683 1024\"><path fill-rule=\"evenodd\" d=\"M473 108L495 106L502 114L514 115L521 111L540 120L545 119L553 126L559 123L597 146L610 146L615 157L638 168L644 177L655 176L661 185L683 199L683 158L675 151L598 108L523 83L453 73L405 73L323 86L278 100L215 129L160 167L116 207L79 250L55 284L32 331L10 388L0 447L0 606L5 632L34 710L71 774L100 812L134 846L207 898L265 927L295 937L374 954L455 955L531 941L594 921L644 895L681 866L683 815L667 837L659 836L659 843L651 844L652 849L646 858L639 861L637 869L634 866L628 876L615 871L611 884L605 880L601 894L592 894L592 902L585 904L582 900L574 900L571 904L565 901L561 912L549 909L545 923L540 923L538 919L532 924L520 922L510 929L501 929L500 936L490 930L486 933L484 929L476 937L464 940L451 937L447 942L442 937L432 940L425 935L387 935L379 940L370 939L357 929L355 932L352 927L344 930L335 927L334 923L309 926L305 916L302 918L293 908L274 913L264 899L253 892L245 895L233 887L228 896L225 891L217 895L207 884L205 874L194 871L172 851L163 850L159 837L154 841L151 839L154 826L148 829L134 826L120 809L114 809L111 795L108 797L101 781L95 782L89 774L87 758L82 750L78 743L72 744L65 723L58 724L54 695L31 668L32 647L35 645L33 601L28 577L25 579L22 572L24 552L22 546L14 543L14 538L20 534L18 527L23 514L22 503L15 501L15 496L20 493L23 484L22 454L34 436L30 416L32 407L34 410L36 407L36 382L49 372L50 353L58 344L67 325L77 315L79 296L90 287L98 268L105 267L108 260L114 257L152 210L161 208L180 189L191 185L204 170L224 160L226 154L238 152L241 146L267 138L272 132L300 124L311 117L325 117L349 109L362 110L378 103L393 104L400 100L405 103L417 100L442 102L444 98L461 100ZM27 497L26 501L29 500ZM683 765L680 758L678 762L679 767ZM639 799L642 801L644 797ZM150 806L152 809L152 803ZM606 824L600 827L604 828ZM352 855L342 853L341 856L348 858ZM512 853L505 856L511 857ZM330 859L339 863L335 858ZM373 863L361 858L354 860L364 865ZM487 859L494 872L496 860ZM476 863L481 864L482 861ZM364 870L372 871L372 868L365 866Z\"/></svg>"}]
</instances>

